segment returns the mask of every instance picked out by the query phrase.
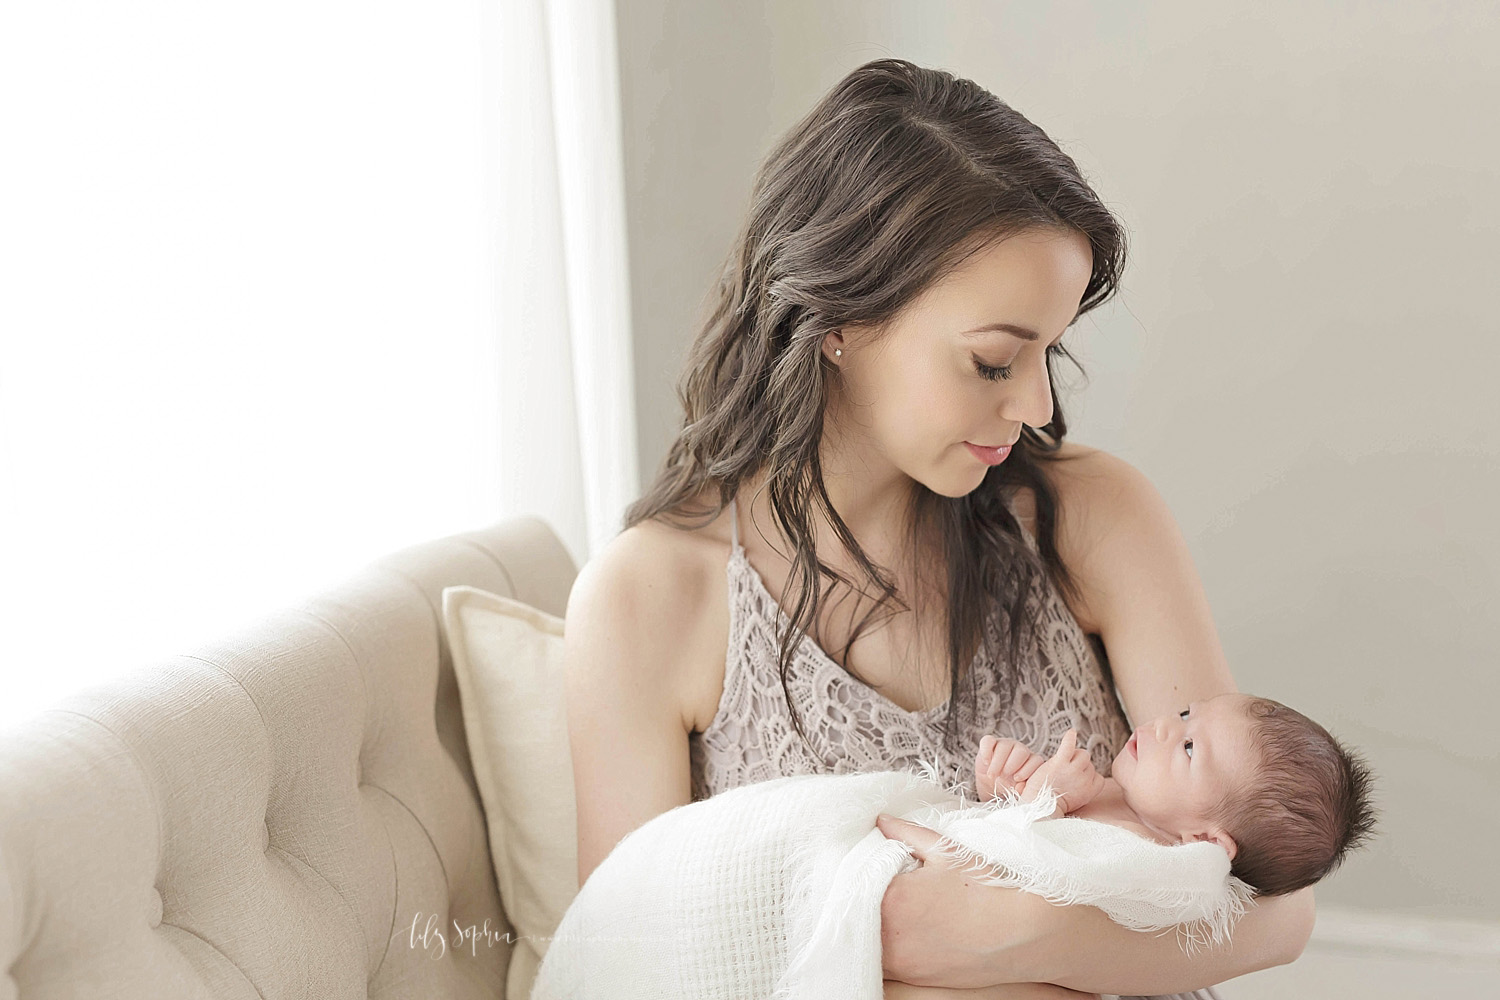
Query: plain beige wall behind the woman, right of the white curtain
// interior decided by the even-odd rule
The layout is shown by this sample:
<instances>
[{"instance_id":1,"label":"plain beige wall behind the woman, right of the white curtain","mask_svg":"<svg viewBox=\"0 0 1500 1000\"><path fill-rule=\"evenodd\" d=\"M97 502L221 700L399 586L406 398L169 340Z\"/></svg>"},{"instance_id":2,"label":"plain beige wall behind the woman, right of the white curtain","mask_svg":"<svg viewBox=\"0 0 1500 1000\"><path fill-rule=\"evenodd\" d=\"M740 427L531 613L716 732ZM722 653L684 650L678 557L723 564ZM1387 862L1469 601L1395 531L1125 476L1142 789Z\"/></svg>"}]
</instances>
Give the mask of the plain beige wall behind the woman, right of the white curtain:
<instances>
[{"instance_id":1,"label":"plain beige wall behind the woman, right of the white curtain","mask_svg":"<svg viewBox=\"0 0 1500 1000\"><path fill-rule=\"evenodd\" d=\"M1077 439L1176 511L1246 691L1364 748L1323 883L1500 916L1497 4L618 0L640 456L771 141L843 73L970 76L1131 231Z\"/></svg>"}]
</instances>

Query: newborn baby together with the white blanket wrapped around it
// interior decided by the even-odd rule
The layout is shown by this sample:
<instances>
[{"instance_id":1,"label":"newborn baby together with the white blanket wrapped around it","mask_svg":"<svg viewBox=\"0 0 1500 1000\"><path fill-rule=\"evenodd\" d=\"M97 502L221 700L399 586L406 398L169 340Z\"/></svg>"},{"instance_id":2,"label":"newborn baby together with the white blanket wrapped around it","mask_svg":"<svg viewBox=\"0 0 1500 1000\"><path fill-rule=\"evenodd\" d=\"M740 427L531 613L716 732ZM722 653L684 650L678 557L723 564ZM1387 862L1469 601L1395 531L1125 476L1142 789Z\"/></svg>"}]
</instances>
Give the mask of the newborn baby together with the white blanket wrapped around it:
<instances>
[{"instance_id":1,"label":"newborn baby together with the white blanket wrapped around it","mask_svg":"<svg viewBox=\"0 0 1500 1000\"><path fill-rule=\"evenodd\" d=\"M668 810L594 870L531 1000L879 1000L880 900L916 865L874 820L934 829L978 882L1222 942L1368 835L1370 775L1323 727L1242 694L1136 730L1104 778L1070 730L1042 759L986 738L963 784L884 771L774 778Z\"/></svg>"}]
</instances>

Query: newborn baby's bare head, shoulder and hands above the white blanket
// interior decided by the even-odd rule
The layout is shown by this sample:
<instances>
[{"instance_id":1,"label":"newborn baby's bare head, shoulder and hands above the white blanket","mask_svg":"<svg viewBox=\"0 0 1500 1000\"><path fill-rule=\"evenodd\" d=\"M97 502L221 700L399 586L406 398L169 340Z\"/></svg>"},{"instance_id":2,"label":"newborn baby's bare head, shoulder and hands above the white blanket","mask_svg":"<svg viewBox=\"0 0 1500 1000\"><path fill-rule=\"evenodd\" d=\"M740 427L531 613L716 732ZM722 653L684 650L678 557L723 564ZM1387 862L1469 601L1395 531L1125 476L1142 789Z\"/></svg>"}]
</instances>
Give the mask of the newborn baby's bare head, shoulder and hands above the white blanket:
<instances>
[{"instance_id":1,"label":"newborn baby's bare head, shoulder and hands above the white blanket","mask_svg":"<svg viewBox=\"0 0 1500 1000\"><path fill-rule=\"evenodd\" d=\"M1210 841L1257 895L1329 874L1374 828L1368 768L1326 729L1280 702L1220 694L1140 726L1110 765L1094 769L1072 730L1044 759L986 736L975 787L1035 799L1058 792L1054 816L1122 826L1160 844Z\"/></svg>"}]
</instances>

